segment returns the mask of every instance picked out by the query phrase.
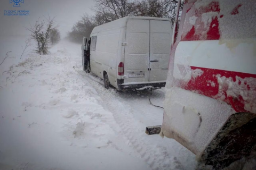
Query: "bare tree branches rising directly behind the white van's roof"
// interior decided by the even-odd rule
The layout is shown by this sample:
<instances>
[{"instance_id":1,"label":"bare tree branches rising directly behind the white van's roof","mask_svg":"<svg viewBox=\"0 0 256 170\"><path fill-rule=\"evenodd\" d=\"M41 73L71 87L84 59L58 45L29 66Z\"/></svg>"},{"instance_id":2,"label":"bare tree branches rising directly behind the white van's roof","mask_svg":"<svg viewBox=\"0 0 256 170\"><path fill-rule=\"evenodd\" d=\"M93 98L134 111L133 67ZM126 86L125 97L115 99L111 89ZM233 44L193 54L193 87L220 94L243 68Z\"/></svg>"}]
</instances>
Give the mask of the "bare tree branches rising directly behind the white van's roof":
<instances>
[{"instance_id":1,"label":"bare tree branches rising directly behind the white van's roof","mask_svg":"<svg viewBox=\"0 0 256 170\"><path fill-rule=\"evenodd\" d=\"M94 27L105 24L125 16L153 16L170 18L175 21L178 0L94 0L93 16L85 14L68 33L68 38L81 43L82 37L90 37ZM180 6L183 8L184 0ZM179 19L180 19L179 15Z\"/></svg>"}]
</instances>

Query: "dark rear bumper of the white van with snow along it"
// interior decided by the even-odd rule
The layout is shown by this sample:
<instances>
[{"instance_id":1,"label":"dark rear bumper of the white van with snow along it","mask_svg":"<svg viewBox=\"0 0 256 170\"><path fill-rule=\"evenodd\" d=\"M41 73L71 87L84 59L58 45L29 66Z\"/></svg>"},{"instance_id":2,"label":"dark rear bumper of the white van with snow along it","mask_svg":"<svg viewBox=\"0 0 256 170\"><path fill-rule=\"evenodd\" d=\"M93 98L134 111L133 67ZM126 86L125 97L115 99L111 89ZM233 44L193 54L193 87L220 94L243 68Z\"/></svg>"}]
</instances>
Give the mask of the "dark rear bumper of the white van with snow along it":
<instances>
[{"instance_id":1,"label":"dark rear bumper of the white van with snow along it","mask_svg":"<svg viewBox=\"0 0 256 170\"><path fill-rule=\"evenodd\" d=\"M149 90L165 87L165 81L124 83L124 79L117 79L118 90Z\"/></svg>"}]
</instances>

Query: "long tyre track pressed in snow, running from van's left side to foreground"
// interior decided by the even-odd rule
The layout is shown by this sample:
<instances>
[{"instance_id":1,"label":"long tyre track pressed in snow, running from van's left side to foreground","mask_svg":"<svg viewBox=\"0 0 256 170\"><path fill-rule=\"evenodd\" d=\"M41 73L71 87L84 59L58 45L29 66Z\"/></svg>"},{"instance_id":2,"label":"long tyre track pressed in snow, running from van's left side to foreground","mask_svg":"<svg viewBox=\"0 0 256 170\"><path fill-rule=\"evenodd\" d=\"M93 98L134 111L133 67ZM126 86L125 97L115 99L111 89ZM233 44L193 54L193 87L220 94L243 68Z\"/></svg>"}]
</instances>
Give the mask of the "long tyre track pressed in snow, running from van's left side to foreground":
<instances>
[{"instance_id":1,"label":"long tyre track pressed in snow, running from van's left side to foreground","mask_svg":"<svg viewBox=\"0 0 256 170\"><path fill-rule=\"evenodd\" d=\"M77 73L84 79L90 76L83 71L77 71ZM95 83L92 78L89 79L86 80L92 84ZM107 107L106 109L113 113L115 121L121 127L123 134L129 141L129 145L139 153L141 158L145 160L152 169L182 169L177 158L169 157L166 148L153 145L153 143L150 143L146 139L147 136L144 129L141 130L138 126L139 122L132 116L131 106L125 103L122 97L118 96L118 92L114 89L106 90L103 86L93 87L105 102L104 107ZM148 107L148 105L145 107Z\"/></svg>"}]
</instances>

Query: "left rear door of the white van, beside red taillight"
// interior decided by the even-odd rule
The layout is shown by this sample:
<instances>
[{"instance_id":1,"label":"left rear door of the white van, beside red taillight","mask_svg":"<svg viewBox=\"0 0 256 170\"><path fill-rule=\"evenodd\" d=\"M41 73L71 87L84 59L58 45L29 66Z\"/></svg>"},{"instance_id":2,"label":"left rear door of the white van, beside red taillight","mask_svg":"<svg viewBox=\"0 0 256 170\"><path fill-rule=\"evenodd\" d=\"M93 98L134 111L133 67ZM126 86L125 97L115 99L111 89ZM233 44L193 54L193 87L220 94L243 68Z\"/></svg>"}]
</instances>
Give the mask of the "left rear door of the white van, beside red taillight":
<instances>
[{"instance_id":1,"label":"left rear door of the white van, beside red taillight","mask_svg":"<svg viewBox=\"0 0 256 170\"><path fill-rule=\"evenodd\" d=\"M149 80L149 20L127 21L124 57L124 82Z\"/></svg>"}]
</instances>

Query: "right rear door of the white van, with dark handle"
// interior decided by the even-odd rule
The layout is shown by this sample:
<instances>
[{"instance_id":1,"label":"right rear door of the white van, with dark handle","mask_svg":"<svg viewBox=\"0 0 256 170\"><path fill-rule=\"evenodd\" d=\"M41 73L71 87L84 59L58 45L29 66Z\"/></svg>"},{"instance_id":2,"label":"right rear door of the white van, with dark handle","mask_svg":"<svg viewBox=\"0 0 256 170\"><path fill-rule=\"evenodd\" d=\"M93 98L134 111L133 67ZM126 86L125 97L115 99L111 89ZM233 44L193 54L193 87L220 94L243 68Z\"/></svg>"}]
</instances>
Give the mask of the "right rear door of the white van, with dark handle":
<instances>
[{"instance_id":1,"label":"right rear door of the white van, with dark handle","mask_svg":"<svg viewBox=\"0 0 256 170\"><path fill-rule=\"evenodd\" d=\"M171 53L170 21L150 20L149 81L166 81Z\"/></svg>"}]
</instances>

